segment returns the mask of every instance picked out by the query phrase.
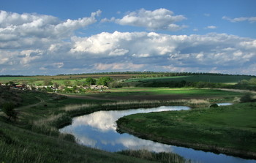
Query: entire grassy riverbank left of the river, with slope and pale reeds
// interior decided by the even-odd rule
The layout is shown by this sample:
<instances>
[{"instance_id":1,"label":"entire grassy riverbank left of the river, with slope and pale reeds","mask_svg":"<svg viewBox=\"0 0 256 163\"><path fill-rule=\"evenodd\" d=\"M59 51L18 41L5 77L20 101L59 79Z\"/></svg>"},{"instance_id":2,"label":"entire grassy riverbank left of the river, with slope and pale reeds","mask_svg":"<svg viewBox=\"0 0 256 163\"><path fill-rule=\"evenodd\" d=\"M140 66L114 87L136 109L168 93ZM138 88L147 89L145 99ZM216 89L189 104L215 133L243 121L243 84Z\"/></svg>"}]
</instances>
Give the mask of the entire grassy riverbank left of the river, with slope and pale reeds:
<instances>
[{"instance_id":1,"label":"entire grassy riverbank left of the river, with slope and pale reeds","mask_svg":"<svg viewBox=\"0 0 256 163\"><path fill-rule=\"evenodd\" d=\"M151 162L145 157L135 158L127 153L109 153L75 143L70 134L61 134L60 126L71 123L72 117L97 110L124 110L162 105L159 101L109 102L104 100L69 99L56 94L33 91L5 90L20 99L17 121L0 111L0 162ZM29 100L31 99L31 100ZM182 102L182 101L181 101ZM178 102L178 103L181 103ZM183 102L184 103L184 102ZM166 105L176 102L166 102ZM131 151L132 152L132 151ZM147 153L148 156L149 153ZM157 156L151 153L152 156ZM173 162L186 162L181 156L165 154ZM140 159L142 158L142 159ZM149 161L148 161L149 159ZM150 161L151 160L151 161ZM178 160L178 161L177 161Z\"/></svg>"}]
</instances>

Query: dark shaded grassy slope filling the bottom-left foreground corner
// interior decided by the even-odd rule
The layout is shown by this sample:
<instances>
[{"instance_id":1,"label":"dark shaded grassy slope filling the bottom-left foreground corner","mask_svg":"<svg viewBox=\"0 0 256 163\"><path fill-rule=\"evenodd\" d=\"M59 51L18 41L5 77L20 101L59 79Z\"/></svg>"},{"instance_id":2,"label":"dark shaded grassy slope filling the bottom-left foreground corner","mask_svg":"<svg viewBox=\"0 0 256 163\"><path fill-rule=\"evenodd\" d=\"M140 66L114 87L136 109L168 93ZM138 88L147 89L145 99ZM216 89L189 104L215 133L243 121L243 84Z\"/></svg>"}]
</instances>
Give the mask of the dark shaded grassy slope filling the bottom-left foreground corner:
<instances>
[{"instance_id":1,"label":"dark shaded grassy slope filling the bottom-left foreground corner","mask_svg":"<svg viewBox=\"0 0 256 163\"><path fill-rule=\"evenodd\" d=\"M0 121L0 162L147 162L37 134Z\"/></svg>"}]
</instances>

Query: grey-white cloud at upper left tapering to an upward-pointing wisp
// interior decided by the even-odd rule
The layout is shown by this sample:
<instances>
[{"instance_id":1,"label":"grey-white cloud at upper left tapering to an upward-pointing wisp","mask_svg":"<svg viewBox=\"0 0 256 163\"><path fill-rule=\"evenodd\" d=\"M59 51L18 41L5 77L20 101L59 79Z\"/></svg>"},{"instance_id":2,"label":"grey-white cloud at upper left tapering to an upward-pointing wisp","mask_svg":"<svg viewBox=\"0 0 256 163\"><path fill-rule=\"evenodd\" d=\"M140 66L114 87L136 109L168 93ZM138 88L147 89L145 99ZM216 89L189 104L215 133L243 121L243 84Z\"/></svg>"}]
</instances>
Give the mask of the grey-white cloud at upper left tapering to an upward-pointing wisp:
<instances>
[{"instance_id":1,"label":"grey-white cloud at upper left tapering to an upward-pointing wisp","mask_svg":"<svg viewBox=\"0 0 256 163\"><path fill-rule=\"evenodd\" d=\"M73 31L95 23L100 12L91 13L89 18L61 21L51 15L0 11L0 42L4 42L0 48L10 48L10 44L12 48L19 48L23 44L70 37ZM19 40L21 41L18 42Z\"/></svg>"}]
</instances>

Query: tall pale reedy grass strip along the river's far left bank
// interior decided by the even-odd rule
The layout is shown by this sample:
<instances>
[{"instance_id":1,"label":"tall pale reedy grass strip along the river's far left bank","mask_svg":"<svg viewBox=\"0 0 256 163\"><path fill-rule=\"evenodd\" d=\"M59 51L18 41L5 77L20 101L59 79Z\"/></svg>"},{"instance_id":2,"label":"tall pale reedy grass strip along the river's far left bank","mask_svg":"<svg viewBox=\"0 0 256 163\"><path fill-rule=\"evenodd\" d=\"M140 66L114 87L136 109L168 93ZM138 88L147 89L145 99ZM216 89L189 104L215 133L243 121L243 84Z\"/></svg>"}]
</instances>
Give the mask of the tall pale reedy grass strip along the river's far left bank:
<instances>
[{"instance_id":1,"label":"tall pale reedy grass strip along the river's far left bank","mask_svg":"<svg viewBox=\"0 0 256 163\"><path fill-rule=\"evenodd\" d=\"M59 109L59 114L50 115L48 118L41 118L36 121L31 122L31 129L34 132L41 134L47 134L49 136L61 137L62 139L72 140L69 134L61 134L59 128L67 126L72 123L72 117L78 115L85 115L93 113L99 110L127 110L135 108L146 108L146 107L159 107L162 105L187 105L192 107L198 106L208 106L209 102L206 100L170 100L170 101L120 101L120 102L108 102L102 105L91 105L91 104L81 104L81 105L67 105Z\"/></svg>"}]
</instances>

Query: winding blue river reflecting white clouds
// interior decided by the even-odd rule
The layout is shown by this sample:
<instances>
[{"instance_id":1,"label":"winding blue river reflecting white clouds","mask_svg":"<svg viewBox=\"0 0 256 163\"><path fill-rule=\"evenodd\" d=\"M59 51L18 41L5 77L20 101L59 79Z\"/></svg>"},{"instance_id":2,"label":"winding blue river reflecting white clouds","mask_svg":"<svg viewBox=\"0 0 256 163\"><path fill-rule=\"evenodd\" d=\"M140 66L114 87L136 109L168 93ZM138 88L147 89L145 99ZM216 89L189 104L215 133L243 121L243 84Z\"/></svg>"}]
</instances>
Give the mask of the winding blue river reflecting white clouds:
<instances>
[{"instance_id":1,"label":"winding blue river reflecting white clouds","mask_svg":"<svg viewBox=\"0 0 256 163\"><path fill-rule=\"evenodd\" d=\"M222 104L218 104L222 105ZM227 105L227 104L223 104ZM126 149L138 150L146 149L155 152L173 152L186 159L195 162L232 162L232 163L256 163L256 160L241 159L225 154L197 151L192 148L178 147L143 140L131 134L119 134L116 132L116 121L125 115L135 113L149 113L170 110L189 110L184 106L162 106L150 109L118 110L118 111L98 111L89 115L82 115L73 118L72 124L60 129L60 132L73 134L78 143L92 148L99 148L105 151L116 152Z\"/></svg>"}]
</instances>

